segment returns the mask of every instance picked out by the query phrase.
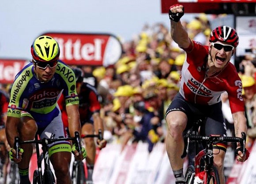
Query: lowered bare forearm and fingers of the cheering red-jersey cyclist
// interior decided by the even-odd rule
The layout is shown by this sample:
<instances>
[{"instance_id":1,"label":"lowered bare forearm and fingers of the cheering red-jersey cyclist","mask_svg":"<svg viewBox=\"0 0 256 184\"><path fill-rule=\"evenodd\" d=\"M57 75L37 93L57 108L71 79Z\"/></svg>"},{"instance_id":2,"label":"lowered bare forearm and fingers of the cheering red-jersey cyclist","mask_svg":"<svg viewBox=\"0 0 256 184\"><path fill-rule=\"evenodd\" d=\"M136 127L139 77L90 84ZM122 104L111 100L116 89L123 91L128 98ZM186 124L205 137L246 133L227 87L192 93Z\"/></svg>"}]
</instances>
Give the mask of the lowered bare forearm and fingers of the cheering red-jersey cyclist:
<instances>
[{"instance_id":1,"label":"lowered bare forearm and fingers of the cheering red-jersey cyclist","mask_svg":"<svg viewBox=\"0 0 256 184\"><path fill-rule=\"evenodd\" d=\"M234 120L235 136L241 137L241 133L247 131L245 112L240 111L240 112L233 113L232 115ZM237 144L237 147L240 147L239 143ZM239 155L237 155L237 160L239 162L244 162L246 155L242 155L241 151L239 151L238 154Z\"/></svg>"}]
</instances>

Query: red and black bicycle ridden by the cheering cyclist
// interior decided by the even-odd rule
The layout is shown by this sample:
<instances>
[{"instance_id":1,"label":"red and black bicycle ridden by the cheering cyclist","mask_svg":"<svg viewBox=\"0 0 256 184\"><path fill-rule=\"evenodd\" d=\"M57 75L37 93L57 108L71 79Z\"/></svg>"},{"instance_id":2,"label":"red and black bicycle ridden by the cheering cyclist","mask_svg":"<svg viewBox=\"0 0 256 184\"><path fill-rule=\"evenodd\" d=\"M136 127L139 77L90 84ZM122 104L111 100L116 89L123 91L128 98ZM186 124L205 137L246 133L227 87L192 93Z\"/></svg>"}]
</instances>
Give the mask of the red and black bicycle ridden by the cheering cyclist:
<instances>
[{"instance_id":1,"label":"red and black bicycle ridden by the cheering cyclist","mask_svg":"<svg viewBox=\"0 0 256 184\"><path fill-rule=\"evenodd\" d=\"M194 184L195 176L202 174L203 184L220 184L218 170L215 167L213 162L213 144L216 141L225 141L241 144L242 152L245 155L245 141L246 134L242 132L242 137L228 137L228 136L219 136L219 135L210 135L210 136L200 136L198 129L202 120L196 121L195 125L192 128L192 131L188 131L185 134L185 139L188 139L187 145L185 144L184 153L181 158L184 158L188 153L188 145L191 141L195 141L195 163L194 165L188 166L185 173L185 180L187 184ZM199 142L206 142L205 149L199 151ZM185 149L186 148L186 149ZM237 153L236 153L237 154Z\"/></svg>"}]
</instances>

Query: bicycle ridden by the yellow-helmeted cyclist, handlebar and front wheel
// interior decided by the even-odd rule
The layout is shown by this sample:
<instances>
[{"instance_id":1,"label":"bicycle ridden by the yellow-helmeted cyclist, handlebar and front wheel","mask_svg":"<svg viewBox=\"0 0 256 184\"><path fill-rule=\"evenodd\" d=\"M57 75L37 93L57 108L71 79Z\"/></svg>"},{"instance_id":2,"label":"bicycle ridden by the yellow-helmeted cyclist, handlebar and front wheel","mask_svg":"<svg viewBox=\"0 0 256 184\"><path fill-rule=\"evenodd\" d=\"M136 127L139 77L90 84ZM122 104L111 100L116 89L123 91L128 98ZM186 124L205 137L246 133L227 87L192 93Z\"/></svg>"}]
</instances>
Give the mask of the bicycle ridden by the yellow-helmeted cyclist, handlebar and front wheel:
<instances>
[{"instance_id":1,"label":"bicycle ridden by the yellow-helmeted cyclist, handlebar and front wheel","mask_svg":"<svg viewBox=\"0 0 256 184\"><path fill-rule=\"evenodd\" d=\"M36 136L35 140L26 140L26 141L21 141L19 139L19 137L15 137L14 148L16 150L16 158L18 158L18 156L19 156L18 149L21 144L35 144L36 145L38 169L34 170L33 184L56 184L54 174L50 167L50 160L49 160L49 154L48 154L48 150L49 150L48 145L49 144L52 144L56 141L72 140L75 142L75 144L79 145L78 151L79 151L79 153L81 153L81 144L80 144L80 138L79 138L78 132L75 132L75 137L66 137L66 138L60 137L60 138L54 139L54 136L55 135L52 134L49 139L44 138L41 140L38 140L38 136ZM42 145L43 152L41 154L40 154L40 150L39 150L39 144ZM45 165L44 173L42 173L42 166L41 166L43 160L44 160L44 165Z\"/></svg>"}]
</instances>

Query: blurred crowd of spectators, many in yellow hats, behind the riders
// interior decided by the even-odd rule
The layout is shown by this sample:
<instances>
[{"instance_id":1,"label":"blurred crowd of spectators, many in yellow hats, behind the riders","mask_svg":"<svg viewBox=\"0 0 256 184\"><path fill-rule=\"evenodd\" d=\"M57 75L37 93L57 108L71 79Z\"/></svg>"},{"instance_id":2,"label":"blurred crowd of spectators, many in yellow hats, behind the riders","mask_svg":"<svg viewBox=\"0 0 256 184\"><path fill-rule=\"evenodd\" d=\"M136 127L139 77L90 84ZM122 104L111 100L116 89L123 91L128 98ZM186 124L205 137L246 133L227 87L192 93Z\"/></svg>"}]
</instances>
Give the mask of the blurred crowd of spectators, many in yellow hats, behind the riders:
<instances>
[{"instance_id":1,"label":"blurred crowd of spectators, many in yellow hats, behind the riders","mask_svg":"<svg viewBox=\"0 0 256 184\"><path fill-rule=\"evenodd\" d=\"M191 39L208 44L211 25L205 14L182 23ZM172 40L169 26L161 23L144 25L136 37L122 42L122 47L121 58L114 65L74 67L83 70L84 82L99 93L105 139L121 144L122 149L126 144L147 142L148 151L152 151L154 144L165 141L165 112L179 91L185 53ZM245 55L238 63L249 147L256 137L256 56ZM9 85L1 87L8 92ZM222 95L222 110L231 136L233 118L226 93Z\"/></svg>"}]
</instances>

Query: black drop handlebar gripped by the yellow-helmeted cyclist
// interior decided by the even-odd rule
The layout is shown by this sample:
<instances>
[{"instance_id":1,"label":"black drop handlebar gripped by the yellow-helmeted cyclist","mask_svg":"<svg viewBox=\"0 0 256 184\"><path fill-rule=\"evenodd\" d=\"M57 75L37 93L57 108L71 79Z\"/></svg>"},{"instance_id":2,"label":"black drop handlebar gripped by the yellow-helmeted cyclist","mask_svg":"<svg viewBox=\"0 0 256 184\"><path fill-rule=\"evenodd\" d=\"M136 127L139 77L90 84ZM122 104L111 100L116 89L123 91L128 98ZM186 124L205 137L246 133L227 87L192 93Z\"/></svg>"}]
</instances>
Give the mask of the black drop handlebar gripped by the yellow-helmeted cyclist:
<instances>
[{"instance_id":1,"label":"black drop handlebar gripped by the yellow-helmeted cyclist","mask_svg":"<svg viewBox=\"0 0 256 184\"><path fill-rule=\"evenodd\" d=\"M81 140L80 140L80 137L79 137L79 132L75 132L75 136L74 137L62 137L62 138L56 138L56 139L52 139L52 138L44 138L44 139L41 139L41 140L25 140L25 141L21 141L19 137L15 137L15 140L14 140L14 149L16 151L16 158L18 159L19 158L19 147L21 144L41 144L43 146L46 146L48 144L52 144L56 141L62 141L62 140L73 140L75 141L75 143L78 145L78 151L79 151L79 154L81 154L81 150L82 150L82 147L81 147Z\"/></svg>"}]
</instances>

